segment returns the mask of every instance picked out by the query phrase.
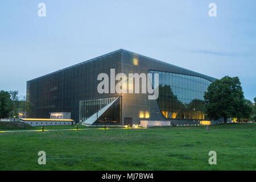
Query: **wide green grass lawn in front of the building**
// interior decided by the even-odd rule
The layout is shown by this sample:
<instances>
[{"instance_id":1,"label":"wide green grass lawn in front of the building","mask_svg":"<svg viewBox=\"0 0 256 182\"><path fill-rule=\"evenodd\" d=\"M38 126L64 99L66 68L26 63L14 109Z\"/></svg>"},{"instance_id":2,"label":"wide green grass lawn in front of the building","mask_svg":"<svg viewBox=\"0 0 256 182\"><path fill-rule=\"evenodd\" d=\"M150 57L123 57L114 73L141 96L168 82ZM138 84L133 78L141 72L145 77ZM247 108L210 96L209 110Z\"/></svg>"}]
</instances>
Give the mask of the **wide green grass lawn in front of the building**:
<instances>
[{"instance_id":1,"label":"wide green grass lawn in front of the building","mask_svg":"<svg viewBox=\"0 0 256 182\"><path fill-rule=\"evenodd\" d=\"M256 123L0 133L0 170L256 170Z\"/></svg>"}]
</instances>

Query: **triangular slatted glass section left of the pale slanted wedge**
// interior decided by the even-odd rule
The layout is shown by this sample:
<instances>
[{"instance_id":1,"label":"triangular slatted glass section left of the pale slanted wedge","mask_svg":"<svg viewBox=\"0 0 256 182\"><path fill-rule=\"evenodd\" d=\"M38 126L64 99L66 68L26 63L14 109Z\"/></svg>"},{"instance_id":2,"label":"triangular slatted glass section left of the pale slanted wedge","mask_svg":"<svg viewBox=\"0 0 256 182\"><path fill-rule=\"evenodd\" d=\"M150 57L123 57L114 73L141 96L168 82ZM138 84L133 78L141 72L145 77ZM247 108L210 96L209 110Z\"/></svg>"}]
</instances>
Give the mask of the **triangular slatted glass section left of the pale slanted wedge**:
<instances>
[{"instance_id":1,"label":"triangular slatted glass section left of the pale slanted wedge","mask_svg":"<svg viewBox=\"0 0 256 182\"><path fill-rule=\"evenodd\" d=\"M110 102L114 101L118 97L108 97L108 98L97 98L92 100L85 100L79 102L79 118L80 122L84 122L98 110L101 110Z\"/></svg>"}]
</instances>

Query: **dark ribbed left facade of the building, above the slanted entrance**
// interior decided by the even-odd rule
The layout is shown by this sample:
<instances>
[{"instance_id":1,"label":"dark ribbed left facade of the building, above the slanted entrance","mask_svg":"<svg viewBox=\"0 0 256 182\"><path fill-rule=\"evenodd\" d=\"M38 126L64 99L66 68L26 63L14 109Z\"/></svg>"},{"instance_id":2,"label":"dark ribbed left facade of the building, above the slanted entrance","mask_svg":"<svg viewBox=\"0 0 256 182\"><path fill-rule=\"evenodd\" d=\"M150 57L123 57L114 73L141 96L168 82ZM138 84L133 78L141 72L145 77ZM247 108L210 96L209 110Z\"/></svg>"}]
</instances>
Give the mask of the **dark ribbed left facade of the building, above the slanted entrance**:
<instances>
[{"instance_id":1,"label":"dark ribbed left facade of the building, above the slanted entrance","mask_svg":"<svg viewBox=\"0 0 256 182\"><path fill-rule=\"evenodd\" d=\"M98 94L97 76L110 74L121 67L120 51L85 61L82 64L51 73L27 82L27 96L31 108L29 118L48 118L51 112L71 112L71 118L79 121L79 101L118 94Z\"/></svg>"}]
</instances>

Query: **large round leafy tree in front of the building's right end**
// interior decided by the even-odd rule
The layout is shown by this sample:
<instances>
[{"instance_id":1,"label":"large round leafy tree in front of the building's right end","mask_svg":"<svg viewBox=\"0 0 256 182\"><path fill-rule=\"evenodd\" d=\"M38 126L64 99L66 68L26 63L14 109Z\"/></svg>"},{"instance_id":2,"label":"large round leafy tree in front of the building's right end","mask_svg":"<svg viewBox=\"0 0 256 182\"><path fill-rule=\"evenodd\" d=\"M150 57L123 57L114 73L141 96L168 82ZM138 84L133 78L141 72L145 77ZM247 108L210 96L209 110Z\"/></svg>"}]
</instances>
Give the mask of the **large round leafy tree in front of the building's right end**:
<instances>
[{"instance_id":1,"label":"large round leafy tree in front of the building's right end","mask_svg":"<svg viewBox=\"0 0 256 182\"><path fill-rule=\"evenodd\" d=\"M238 77L225 76L208 86L204 94L206 113L210 119L243 118L246 113L241 82Z\"/></svg>"}]
</instances>

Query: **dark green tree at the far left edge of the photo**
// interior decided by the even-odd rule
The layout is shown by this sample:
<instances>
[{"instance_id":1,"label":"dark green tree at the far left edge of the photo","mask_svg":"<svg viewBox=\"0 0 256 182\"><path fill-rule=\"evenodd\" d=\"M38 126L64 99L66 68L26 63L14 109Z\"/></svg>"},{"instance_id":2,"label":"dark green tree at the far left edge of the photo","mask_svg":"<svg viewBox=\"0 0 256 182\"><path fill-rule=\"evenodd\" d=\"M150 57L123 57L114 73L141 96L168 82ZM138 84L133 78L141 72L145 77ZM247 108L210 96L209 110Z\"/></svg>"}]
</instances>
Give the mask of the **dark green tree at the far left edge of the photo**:
<instances>
[{"instance_id":1,"label":"dark green tree at the far left edge of the photo","mask_svg":"<svg viewBox=\"0 0 256 182\"><path fill-rule=\"evenodd\" d=\"M9 92L0 91L0 118L9 118L12 104Z\"/></svg>"}]
</instances>

